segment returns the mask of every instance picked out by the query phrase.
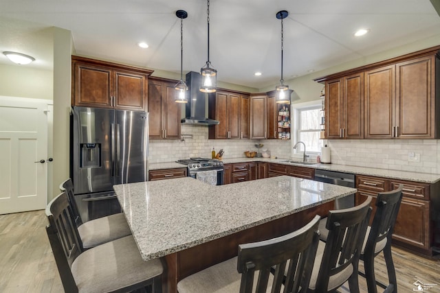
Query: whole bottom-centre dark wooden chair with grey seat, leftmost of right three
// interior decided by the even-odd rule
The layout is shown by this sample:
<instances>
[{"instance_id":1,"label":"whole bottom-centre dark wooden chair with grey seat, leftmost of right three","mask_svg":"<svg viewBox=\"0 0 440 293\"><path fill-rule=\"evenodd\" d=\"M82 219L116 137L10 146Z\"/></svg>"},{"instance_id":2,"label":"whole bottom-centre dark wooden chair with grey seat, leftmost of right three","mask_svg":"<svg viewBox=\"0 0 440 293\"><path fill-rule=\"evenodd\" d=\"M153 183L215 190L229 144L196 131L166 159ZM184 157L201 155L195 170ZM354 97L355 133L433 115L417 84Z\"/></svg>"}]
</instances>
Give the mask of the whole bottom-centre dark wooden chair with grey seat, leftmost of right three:
<instances>
[{"instance_id":1,"label":"whole bottom-centre dark wooden chair with grey seat, leftmost of right three","mask_svg":"<svg viewBox=\"0 0 440 293\"><path fill-rule=\"evenodd\" d=\"M307 292L319 242L319 219L316 215L303 228L281 237L241 244L238 257L186 277L177 283L177 290L179 293Z\"/></svg>"}]
</instances>

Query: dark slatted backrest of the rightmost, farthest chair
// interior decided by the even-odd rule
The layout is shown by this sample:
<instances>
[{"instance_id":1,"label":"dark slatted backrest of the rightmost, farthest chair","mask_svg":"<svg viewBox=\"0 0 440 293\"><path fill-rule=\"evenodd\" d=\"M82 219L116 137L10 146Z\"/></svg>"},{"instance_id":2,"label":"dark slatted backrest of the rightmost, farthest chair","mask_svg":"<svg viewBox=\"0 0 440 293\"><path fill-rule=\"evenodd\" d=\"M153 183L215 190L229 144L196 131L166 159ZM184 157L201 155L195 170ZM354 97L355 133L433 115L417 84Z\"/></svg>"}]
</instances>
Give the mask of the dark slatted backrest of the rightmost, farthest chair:
<instances>
[{"instance_id":1,"label":"dark slatted backrest of the rightmost, farthest chair","mask_svg":"<svg viewBox=\"0 0 440 293\"><path fill-rule=\"evenodd\" d=\"M377 208L371 223L369 237L366 240L364 255L377 255L380 253L383 248L376 251L376 244L384 238L387 238L386 244L391 245L391 236L399 213L403 188L404 185L400 185L399 188L393 191L377 194Z\"/></svg>"}]
</instances>

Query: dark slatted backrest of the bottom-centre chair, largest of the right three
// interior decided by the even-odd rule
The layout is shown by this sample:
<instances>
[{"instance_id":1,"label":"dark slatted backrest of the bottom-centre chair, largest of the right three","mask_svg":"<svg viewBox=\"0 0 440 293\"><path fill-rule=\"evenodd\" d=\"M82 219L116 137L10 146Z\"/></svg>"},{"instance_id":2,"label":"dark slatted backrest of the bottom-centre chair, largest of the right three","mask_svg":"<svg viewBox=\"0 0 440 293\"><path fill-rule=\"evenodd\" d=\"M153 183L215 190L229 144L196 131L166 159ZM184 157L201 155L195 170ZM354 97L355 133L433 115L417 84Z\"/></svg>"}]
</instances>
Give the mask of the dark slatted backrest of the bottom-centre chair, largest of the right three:
<instances>
[{"instance_id":1,"label":"dark slatted backrest of the bottom-centre chair, largest of the right three","mask_svg":"<svg viewBox=\"0 0 440 293\"><path fill-rule=\"evenodd\" d=\"M281 292L283 283L284 292L307 292L318 249L319 220L320 216L316 215L303 228L287 235L239 245L240 292L266 292L268 285L272 285L272 292ZM274 271L272 284L269 279L271 270ZM252 291L257 271L259 281Z\"/></svg>"}]
</instances>

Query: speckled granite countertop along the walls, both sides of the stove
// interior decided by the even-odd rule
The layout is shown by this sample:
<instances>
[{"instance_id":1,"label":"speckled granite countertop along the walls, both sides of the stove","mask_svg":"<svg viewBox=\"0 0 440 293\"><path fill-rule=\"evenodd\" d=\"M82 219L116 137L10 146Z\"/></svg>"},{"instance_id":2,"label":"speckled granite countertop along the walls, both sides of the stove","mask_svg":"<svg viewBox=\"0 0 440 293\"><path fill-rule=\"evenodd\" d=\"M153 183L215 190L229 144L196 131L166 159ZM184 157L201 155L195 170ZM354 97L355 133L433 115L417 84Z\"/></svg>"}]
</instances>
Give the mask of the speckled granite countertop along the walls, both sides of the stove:
<instances>
[{"instance_id":1,"label":"speckled granite countertop along the walls, both sides of the stove","mask_svg":"<svg viewBox=\"0 0 440 293\"><path fill-rule=\"evenodd\" d=\"M270 158L232 158L232 159L223 159L223 163L245 163L245 162L267 162L267 163L278 163L285 165L296 165L300 167L309 167L314 169L322 169L329 170L335 172L345 172L345 173L353 173L357 175L367 175L367 176L377 176L377 177L385 177L397 180L408 180L415 181L420 183L436 183L440 180L440 174L429 174L429 173L419 173L419 172L406 172L406 171L398 171L398 170L390 170L390 169L378 169L378 168L369 168L369 167L356 167L349 165L336 165L336 164L321 164L316 163L313 165L303 165L301 163L287 163L289 159L270 159ZM150 169L173 169L173 168L181 168L185 167L185 165L170 162L170 163L155 163L151 164Z\"/></svg>"}]
</instances>

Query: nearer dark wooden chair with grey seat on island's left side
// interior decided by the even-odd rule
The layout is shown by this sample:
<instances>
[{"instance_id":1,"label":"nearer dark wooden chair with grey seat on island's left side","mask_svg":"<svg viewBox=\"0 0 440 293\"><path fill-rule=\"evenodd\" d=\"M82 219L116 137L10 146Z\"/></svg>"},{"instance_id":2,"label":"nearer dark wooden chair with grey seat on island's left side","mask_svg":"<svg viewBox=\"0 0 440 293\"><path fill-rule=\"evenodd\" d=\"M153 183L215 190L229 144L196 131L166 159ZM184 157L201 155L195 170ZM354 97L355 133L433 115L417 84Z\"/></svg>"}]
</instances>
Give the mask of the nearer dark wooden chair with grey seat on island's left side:
<instances>
[{"instance_id":1,"label":"nearer dark wooden chair with grey seat on island's left side","mask_svg":"<svg viewBox=\"0 0 440 293\"><path fill-rule=\"evenodd\" d=\"M83 252L72 209L63 192L46 207L47 237L65 292L162 292L162 261L144 261L129 235Z\"/></svg>"}]
</instances>

